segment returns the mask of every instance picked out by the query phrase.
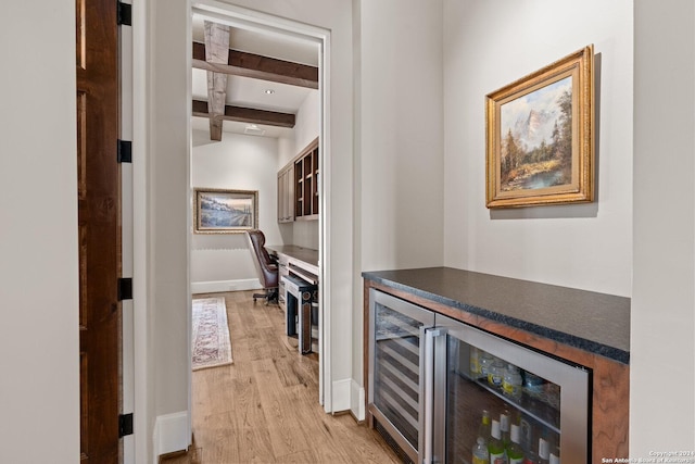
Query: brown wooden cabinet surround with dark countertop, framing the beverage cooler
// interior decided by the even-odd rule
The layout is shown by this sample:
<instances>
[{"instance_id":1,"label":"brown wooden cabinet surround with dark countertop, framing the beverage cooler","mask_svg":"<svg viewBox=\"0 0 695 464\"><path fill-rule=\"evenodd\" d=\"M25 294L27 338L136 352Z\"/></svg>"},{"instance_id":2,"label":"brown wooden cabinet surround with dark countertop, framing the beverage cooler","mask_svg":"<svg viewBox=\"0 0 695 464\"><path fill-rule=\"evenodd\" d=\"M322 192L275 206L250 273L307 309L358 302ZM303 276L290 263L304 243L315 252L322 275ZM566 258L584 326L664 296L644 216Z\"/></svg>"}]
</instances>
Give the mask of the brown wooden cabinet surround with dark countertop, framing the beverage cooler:
<instances>
[{"instance_id":1,"label":"brown wooden cabinet surround with dark countertop, framing the beverage cooler","mask_svg":"<svg viewBox=\"0 0 695 464\"><path fill-rule=\"evenodd\" d=\"M452 267L363 272L369 289L401 298L591 371L592 461L628 457L630 299ZM369 339L368 324L364 339ZM369 347L364 347L368 383ZM366 394L365 405L370 399ZM368 424L372 418L368 415Z\"/></svg>"}]
</instances>

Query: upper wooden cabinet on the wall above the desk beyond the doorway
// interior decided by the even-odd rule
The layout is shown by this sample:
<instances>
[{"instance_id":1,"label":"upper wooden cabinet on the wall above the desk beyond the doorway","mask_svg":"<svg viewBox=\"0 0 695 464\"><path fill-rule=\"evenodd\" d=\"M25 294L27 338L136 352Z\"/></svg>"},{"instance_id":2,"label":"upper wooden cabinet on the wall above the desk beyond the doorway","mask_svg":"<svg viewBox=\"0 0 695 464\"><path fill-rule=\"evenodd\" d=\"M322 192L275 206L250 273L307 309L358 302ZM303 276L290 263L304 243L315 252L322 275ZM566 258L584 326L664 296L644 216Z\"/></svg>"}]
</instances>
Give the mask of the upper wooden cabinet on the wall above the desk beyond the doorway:
<instances>
[{"instance_id":1,"label":"upper wooden cabinet on the wall above the desk beyond the doorway","mask_svg":"<svg viewBox=\"0 0 695 464\"><path fill-rule=\"evenodd\" d=\"M278 172L278 222L318 220L318 138Z\"/></svg>"}]
</instances>

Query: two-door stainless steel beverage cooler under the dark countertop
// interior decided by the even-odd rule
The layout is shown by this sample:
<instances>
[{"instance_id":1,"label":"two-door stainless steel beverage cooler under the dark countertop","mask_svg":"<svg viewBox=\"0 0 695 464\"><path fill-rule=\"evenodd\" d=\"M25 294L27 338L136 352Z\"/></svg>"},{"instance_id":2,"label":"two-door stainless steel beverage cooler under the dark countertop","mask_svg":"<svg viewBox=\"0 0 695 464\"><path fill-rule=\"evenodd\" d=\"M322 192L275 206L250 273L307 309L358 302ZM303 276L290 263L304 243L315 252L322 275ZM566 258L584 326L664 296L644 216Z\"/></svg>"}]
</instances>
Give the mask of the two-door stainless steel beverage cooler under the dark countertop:
<instances>
[{"instance_id":1,"label":"two-door stainless steel beverage cooler under the dark countertop","mask_svg":"<svg viewBox=\"0 0 695 464\"><path fill-rule=\"evenodd\" d=\"M591 373L370 289L369 413L406 462L586 464Z\"/></svg>"}]
</instances>

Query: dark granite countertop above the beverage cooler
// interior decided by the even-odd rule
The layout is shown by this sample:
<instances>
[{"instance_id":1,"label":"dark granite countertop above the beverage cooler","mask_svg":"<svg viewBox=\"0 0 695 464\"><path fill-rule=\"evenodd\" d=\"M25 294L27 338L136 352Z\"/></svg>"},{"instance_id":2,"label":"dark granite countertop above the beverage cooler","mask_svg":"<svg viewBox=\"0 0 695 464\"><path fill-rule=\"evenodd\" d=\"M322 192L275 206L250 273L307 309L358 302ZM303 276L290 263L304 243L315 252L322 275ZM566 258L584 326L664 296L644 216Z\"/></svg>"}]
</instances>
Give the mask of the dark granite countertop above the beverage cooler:
<instances>
[{"instance_id":1,"label":"dark granite countertop above the beverage cooler","mask_svg":"<svg viewBox=\"0 0 695 464\"><path fill-rule=\"evenodd\" d=\"M630 299L452 267L364 272L365 279L628 364Z\"/></svg>"}]
</instances>

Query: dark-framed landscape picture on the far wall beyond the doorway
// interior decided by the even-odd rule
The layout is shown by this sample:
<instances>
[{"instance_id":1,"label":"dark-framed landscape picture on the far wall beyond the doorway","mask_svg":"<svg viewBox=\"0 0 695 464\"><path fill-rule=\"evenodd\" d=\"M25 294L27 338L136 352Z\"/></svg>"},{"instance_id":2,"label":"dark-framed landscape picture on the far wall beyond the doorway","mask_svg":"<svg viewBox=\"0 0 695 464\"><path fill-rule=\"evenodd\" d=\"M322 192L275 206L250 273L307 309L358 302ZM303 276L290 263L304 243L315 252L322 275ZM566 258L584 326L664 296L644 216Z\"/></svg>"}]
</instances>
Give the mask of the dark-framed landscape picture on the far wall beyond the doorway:
<instances>
[{"instance_id":1,"label":"dark-framed landscape picture on the far wall beyond the doorway","mask_svg":"<svg viewBox=\"0 0 695 464\"><path fill-rule=\"evenodd\" d=\"M258 191L195 188L193 231L237 234L258 228Z\"/></svg>"}]
</instances>

